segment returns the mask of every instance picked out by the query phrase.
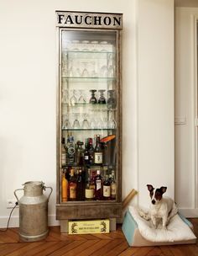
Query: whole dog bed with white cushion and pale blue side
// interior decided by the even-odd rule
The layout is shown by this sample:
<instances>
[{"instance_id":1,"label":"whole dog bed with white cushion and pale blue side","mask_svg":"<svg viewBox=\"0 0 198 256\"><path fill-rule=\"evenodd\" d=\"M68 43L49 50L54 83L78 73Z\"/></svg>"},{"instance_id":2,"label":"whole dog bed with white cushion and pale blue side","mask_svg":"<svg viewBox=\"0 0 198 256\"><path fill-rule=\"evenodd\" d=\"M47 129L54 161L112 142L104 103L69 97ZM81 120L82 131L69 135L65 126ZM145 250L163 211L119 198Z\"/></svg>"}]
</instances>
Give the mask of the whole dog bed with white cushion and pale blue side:
<instances>
[{"instance_id":1,"label":"whole dog bed with white cushion and pale blue side","mask_svg":"<svg viewBox=\"0 0 198 256\"><path fill-rule=\"evenodd\" d=\"M133 247L195 243L192 229L190 221L180 214L170 219L166 230L154 229L150 221L139 216L138 209L133 206L128 207L122 223L122 232Z\"/></svg>"}]
</instances>

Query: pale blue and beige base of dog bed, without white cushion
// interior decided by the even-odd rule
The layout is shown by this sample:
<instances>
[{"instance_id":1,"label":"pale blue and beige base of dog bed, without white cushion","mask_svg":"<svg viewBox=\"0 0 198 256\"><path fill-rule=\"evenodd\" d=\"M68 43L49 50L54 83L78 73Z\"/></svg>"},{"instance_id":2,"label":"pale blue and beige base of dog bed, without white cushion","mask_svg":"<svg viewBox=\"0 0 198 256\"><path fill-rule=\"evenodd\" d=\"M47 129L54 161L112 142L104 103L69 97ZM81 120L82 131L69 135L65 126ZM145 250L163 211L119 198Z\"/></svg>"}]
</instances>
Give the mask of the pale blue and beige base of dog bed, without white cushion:
<instances>
[{"instance_id":1,"label":"pale blue and beige base of dog bed, without white cushion","mask_svg":"<svg viewBox=\"0 0 198 256\"><path fill-rule=\"evenodd\" d=\"M187 225L190 230L193 229L192 224L190 221L185 219L184 216L180 216L182 221L185 222L185 225ZM173 242L152 242L143 237L141 232L139 231L137 221L134 220L131 211L126 211L126 214L123 219L122 223L122 232L124 236L126 237L128 241L128 245L131 247L143 247L143 246L159 246L159 245L173 245L173 244L188 244L188 243L195 243L196 237L192 234L191 239L182 239L180 241L173 241Z\"/></svg>"}]
</instances>

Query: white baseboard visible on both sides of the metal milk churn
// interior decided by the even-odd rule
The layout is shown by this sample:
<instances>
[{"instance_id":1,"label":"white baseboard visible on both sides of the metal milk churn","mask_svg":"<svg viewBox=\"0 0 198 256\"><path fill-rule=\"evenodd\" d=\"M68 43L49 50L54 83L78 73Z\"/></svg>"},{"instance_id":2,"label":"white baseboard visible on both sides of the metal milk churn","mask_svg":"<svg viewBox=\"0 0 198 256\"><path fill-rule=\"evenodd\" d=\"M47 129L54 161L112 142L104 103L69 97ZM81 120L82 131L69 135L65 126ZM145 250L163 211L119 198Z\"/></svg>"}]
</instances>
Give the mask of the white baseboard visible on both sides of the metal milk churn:
<instances>
[{"instance_id":1,"label":"white baseboard visible on both sides of the metal milk churn","mask_svg":"<svg viewBox=\"0 0 198 256\"><path fill-rule=\"evenodd\" d=\"M8 224L8 216L0 216L0 228L7 227ZM60 221L55 219L55 215L48 216L48 225L52 226L60 226ZM11 216L8 227L19 227L19 217Z\"/></svg>"}]
</instances>

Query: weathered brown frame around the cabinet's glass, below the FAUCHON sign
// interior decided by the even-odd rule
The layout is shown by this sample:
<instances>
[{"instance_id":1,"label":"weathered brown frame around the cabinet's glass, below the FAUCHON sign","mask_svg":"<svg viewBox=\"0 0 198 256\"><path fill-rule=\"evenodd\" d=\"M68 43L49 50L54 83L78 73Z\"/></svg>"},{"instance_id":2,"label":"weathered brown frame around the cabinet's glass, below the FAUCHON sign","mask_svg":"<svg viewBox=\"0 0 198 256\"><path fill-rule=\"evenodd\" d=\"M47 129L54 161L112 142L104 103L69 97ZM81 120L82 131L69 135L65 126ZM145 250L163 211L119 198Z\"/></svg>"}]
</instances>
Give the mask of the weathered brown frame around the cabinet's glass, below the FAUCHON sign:
<instances>
[{"instance_id":1,"label":"weathered brown frame around the cabinet's glass, below the FAUCHON sign","mask_svg":"<svg viewBox=\"0 0 198 256\"><path fill-rule=\"evenodd\" d=\"M64 12L61 12L64 13ZM112 13L110 13L112 14ZM114 13L117 15L117 13ZM122 14L118 13L119 17ZM93 32L115 32L116 33L116 95L117 95L117 199L116 200L92 200L92 201L68 201L61 202L61 33L62 31L93 31ZM122 217L122 29L100 28L70 28L57 26L57 114L56 114L56 219L98 219L98 218L121 218Z\"/></svg>"}]
</instances>

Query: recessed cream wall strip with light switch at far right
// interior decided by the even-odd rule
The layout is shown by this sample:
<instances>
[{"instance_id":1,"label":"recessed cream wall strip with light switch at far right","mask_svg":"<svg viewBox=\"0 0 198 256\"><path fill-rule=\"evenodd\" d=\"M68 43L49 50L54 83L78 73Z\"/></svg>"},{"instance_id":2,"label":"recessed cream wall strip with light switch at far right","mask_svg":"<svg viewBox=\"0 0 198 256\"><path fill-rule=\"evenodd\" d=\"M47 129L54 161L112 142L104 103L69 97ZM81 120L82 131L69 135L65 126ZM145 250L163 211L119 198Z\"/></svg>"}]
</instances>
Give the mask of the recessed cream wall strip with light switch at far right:
<instances>
[{"instance_id":1,"label":"recessed cream wall strip with light switch at far right","mask_svg":"<svg viewBox=\"0 0 198 256\"><path fill-rule=\"evenodd\" d=\"M175 200L185 216L197 213L197 69L195 19L198 8L175 10ZM177 120L185 120L178 124Z\"/></svg>"}]
</instances>

